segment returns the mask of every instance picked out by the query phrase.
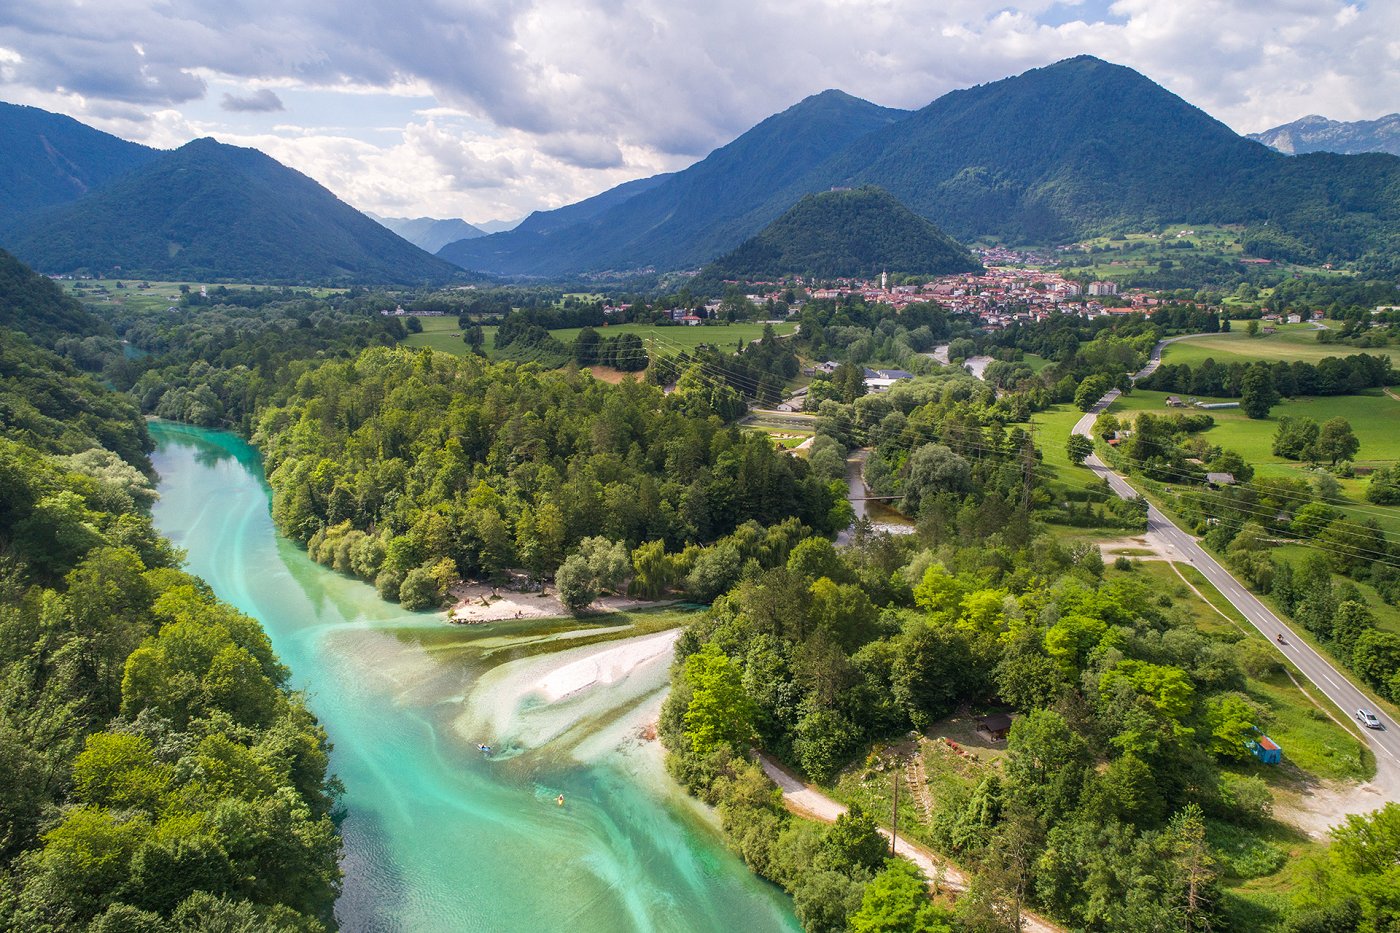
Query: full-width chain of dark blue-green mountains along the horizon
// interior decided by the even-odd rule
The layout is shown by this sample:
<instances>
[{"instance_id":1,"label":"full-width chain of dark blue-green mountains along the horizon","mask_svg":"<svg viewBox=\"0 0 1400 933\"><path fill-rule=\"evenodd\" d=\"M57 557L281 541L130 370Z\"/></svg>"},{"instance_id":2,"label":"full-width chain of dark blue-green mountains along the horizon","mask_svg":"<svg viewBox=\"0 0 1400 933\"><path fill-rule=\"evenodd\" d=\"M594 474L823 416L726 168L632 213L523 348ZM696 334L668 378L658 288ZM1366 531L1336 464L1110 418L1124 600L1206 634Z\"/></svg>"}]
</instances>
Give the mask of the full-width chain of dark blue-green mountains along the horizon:
<instances>
[{"instance_id":1,"label":"full-width chain of dark blue-green mountains along the horizon","mask_svg":"<svg viewBox=\"0 0 1400 933\"><path fill-rule=\"evenodd\" d=\"M1352 127L1379 137L1387 120L1400 116ZM1294 132L1288 144L1301 151L1305 137ZM963 242L1218 223L1245 228L1249 255L1400 270L1400 158L1282 156L1091 56L914 112L823 91L683 171L490 235L461 220L386 221L430 251L451 238L440 258L253 150L213 140L151 150L0 105L0 245L43 272L435 283L462 269L538 279L687 270L808 195L867 185Z\"/></svg>"}]
</instances>

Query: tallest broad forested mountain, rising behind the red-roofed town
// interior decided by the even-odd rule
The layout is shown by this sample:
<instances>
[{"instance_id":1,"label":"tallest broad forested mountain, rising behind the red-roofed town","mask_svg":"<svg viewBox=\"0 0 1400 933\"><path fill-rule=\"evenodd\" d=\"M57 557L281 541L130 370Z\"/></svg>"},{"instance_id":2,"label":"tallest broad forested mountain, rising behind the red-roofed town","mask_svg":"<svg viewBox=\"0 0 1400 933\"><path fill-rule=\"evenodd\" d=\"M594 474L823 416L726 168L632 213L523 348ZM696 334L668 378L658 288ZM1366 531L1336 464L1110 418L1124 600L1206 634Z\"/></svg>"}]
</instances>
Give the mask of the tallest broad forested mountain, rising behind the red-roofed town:
<instances>
[{"instance_id":1,"label":"tallest broad forested mountain, rising behind the red-roofed town","mask_svg":"<svg viewBox=\"0 0 1400 933\"><path fill-rule=\"evenodd\" d=\"M1400 231L1400 160L1288 160L1091 56L945 94L774 200L860 184L886 188L963 240L1267 224L1267 237L1320 259L1383 252Z\"/></svg>"}]
</instances>

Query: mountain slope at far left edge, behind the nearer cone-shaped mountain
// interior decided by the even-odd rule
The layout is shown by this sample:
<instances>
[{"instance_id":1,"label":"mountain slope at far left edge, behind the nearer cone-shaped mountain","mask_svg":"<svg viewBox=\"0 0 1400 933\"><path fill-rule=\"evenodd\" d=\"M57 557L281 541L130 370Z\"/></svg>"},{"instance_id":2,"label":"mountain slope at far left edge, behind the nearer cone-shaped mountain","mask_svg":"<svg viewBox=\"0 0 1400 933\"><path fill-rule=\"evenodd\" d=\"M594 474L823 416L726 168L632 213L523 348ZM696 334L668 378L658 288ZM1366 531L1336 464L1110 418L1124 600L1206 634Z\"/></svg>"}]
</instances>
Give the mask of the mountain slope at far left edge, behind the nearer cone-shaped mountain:
<instances>
[{"instance_id":1,"label":"mountain slope at far left edge, behind the nearer cone-shaped mountain","mask_svg":"<svg viewBox=\"0 0 1400 933\"><path fill-rule=\"evenodd\" d=\"M158 154L62 113L0 102L0 226L77 200Z\"/></svg>"}]
</instances>

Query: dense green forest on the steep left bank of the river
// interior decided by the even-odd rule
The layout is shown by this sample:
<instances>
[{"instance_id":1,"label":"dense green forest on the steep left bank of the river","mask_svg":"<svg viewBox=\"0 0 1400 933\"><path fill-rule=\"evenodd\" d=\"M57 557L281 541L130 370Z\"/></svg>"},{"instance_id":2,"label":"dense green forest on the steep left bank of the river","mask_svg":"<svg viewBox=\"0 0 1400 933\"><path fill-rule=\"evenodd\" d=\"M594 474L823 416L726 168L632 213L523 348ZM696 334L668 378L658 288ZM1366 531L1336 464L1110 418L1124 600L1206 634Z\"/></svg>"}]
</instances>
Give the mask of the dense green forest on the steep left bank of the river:
<instances>
[{"instance_id":1,"label":"dense green forest on the steep left bank of the river","mask_svg":"<svg viewBox=\"0 0 1400 933\"><path fill-rule=\"evenodd\" d=\"M134 402L0 332L0 929L328 929L325 733L153 528L148 450Z\"/></svg>"}]
</instances>

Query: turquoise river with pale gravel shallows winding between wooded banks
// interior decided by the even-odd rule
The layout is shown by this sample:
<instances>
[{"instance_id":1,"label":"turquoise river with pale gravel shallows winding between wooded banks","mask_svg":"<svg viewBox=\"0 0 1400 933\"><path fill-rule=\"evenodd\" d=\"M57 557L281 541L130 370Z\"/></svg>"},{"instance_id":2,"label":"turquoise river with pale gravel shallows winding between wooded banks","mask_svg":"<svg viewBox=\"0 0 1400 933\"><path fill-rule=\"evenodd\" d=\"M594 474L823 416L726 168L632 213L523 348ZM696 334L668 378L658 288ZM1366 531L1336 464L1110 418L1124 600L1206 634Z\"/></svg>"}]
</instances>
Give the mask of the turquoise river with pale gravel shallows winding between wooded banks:
<instances>
[{"instance_id":1,"label":"turquoise river with pale gravel shallows winding between wooded banks","mask_svg":"<svg viewBox=\"0 0 1400 933\"><path fill-rule=\"evenodd\" d=\"M405 612L276 535L258 452L238 437L167 423L151 434L157 525L192 573L263 623L335 744L343 929L799 929L637 738L665 657L543 702L528 691L539 671L603 660L617 643ZM496 734L473 734L482 723ZM508 751L487 759L476 741Z\"/></svg>"}]
</instances>

